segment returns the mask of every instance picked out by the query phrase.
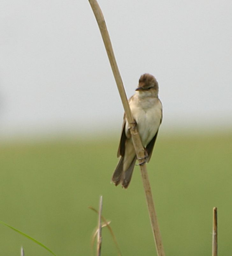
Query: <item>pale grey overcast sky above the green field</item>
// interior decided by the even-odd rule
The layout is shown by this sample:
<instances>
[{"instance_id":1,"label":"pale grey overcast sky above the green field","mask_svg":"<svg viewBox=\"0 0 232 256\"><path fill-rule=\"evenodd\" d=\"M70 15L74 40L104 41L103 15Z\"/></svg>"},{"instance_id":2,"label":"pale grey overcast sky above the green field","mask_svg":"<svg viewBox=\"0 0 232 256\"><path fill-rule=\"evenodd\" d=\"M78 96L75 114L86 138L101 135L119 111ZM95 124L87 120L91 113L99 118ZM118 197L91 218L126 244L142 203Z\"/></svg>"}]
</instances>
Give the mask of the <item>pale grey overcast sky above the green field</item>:
<instances>
[{"instance_id":1,"label":"pale grey overcast sky above the green field","mask_svg":"<svg viewBox=\"0 0 232 256\"><path fill-rule=\"evenodd\" d=\"M99 0L130 97L159 83L163 129L232 127L232 2ZM123 108L87 0L0 1L2 136L121 129Z\"/></svg>"}]
</instances>

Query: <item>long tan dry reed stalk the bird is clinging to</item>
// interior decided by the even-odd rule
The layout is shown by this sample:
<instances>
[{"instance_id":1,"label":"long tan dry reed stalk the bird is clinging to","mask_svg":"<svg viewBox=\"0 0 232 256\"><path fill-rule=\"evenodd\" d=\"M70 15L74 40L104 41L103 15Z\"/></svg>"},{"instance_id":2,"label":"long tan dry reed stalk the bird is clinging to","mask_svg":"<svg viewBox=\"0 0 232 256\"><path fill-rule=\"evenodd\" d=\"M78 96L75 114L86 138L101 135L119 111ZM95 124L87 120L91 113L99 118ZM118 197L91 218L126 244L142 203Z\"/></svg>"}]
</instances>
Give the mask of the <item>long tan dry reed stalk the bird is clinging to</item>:
<instances>
[{"instance_id":1,"label":"long tan dry reed stalk the bird is clinging to","mask_svg":"<svg viewBox=\"0 0 232 256\"><path fill-rule=\"evenodd\" d=\"M139 163L141 164L145 157L144 148L142 146L139 133L137 131L136 125L134 123L134 119L131 114L131 110L130 110L130 107L128 104L128 100L127 100L126 92L125 92L125 89L123 86L122 78L120 76L119 68L116 63L115 56L113 53L110 36L109 36L109 33L106 28L105 19L102 14L102 11L98 5L98 2L96 0L89 0L89 3L91 5L91 8L93 10L93 13L94 13L95 18L98 23L98 27L99 27L101 35L102 35L102 39L103 39L103 42L105 45L105 50L107 52L107 55L108 55L108 58L110 61L110 65L112 68L112 72L114 75L114 79L116 81L116 84L117 84L117 87L119 90L119 94L120 94L120 97L122 100L123 108L125 110L127 121L128 121L128 123L131 124L130 132L132 135L137 159L138 159ZM158 256L165 256L165 253L163 250L161 234L160 234L160 230L159 230L159 225L158 225L158 221L157 221L157 217L156 217L156 211L155 211L155 207L154 207L154 203L153 203L153 199L152 199L150 182L149 182L149 178L148 178L146 164L140 165L140 170L141 170L141 176L142 176L142 181L143 181L143 187L144 187L144 191L145 191L146 199L147 199L147 205L148 205L148 211L149 211L152 231L153 231L155 244L156 244L156 252L157 252Z\"/></svg>"}]
</instances>

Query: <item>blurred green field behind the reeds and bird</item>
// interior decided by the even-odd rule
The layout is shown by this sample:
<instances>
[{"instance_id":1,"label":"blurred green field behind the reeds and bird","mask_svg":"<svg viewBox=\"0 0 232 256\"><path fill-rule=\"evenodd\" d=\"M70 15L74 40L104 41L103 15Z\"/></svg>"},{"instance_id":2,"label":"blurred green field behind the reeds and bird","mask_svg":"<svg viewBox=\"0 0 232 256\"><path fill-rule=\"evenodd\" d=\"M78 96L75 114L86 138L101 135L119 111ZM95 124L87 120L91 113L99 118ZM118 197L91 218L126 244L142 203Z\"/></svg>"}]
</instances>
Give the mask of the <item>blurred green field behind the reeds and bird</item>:
<instances>
[{"instance_id":1,"label":"blurred green field behind the reeds and bird","mask_svg":"<svg viewBox=\"0 0 232 256\"><path fill-rule=\"evenodd\" d=\"M156 255L139 167L127 190L114 187L119 138L11 143L0 146L0 220L58 255L92 255L91 235L103 215L122 255ZM211 255L218 207L219 255L231 255L232 133L160 134L148 164L166 255ZM0 255L51 255L0 225ZM102 255L117 255L103 230Z\"/></svg>"}]
</instances>

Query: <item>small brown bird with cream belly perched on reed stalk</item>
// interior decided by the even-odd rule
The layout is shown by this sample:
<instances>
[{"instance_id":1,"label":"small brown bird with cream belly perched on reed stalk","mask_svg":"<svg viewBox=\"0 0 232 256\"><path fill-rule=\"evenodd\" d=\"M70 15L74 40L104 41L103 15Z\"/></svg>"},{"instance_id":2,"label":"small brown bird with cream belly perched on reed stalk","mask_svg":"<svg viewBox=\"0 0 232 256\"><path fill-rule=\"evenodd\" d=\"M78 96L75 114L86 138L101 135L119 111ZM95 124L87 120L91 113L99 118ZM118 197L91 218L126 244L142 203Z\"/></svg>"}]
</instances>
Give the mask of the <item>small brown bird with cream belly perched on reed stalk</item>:
<instances>
[{"instance_id":1,"label":"small brown bird with cream belly perched on reed stalk","mask_svg":"<svg viewBox=\"0 0 232 256\"><path fill-rule=\"evenodd\" d=\"M140 76L135 94L128 100L132 116L144 147L145 162L148 163L158 135L163 118L162 103L158 98L159 86L156 78L148 73ZM121 138L118 148L120 160L113 173L112 182L115 186L121 183L127 188L136 162L136 153L124 113Z\"/></svg>"}]
</instances>

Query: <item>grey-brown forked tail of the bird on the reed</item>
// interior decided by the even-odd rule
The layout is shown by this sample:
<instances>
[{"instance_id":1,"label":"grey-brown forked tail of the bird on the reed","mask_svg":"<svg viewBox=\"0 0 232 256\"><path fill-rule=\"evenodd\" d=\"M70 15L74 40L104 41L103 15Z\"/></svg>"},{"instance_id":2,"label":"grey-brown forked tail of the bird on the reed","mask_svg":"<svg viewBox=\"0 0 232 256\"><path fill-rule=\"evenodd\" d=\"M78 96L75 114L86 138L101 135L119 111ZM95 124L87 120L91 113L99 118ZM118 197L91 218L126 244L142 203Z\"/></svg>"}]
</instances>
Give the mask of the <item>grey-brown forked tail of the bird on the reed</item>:
<instances>
[{"instance_id":1,"label":"grey-brown forked tail of the bird on the reed","mask_svg":"<svg viewBox=\"0 0 232 256\"><path fill-rule=\"evenodd\" d=\"M134 165L136 161L136 156L133 158L132 162L130 163L129 167L126 171L123 171L123 164L124 164L124 157L122 156L119 160L119 163L113 173L112 181L115 186L122 183L123 188L127 188L131 181L132 173L134 170Z\"/></svg>"}]
</instances>

